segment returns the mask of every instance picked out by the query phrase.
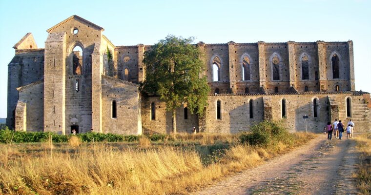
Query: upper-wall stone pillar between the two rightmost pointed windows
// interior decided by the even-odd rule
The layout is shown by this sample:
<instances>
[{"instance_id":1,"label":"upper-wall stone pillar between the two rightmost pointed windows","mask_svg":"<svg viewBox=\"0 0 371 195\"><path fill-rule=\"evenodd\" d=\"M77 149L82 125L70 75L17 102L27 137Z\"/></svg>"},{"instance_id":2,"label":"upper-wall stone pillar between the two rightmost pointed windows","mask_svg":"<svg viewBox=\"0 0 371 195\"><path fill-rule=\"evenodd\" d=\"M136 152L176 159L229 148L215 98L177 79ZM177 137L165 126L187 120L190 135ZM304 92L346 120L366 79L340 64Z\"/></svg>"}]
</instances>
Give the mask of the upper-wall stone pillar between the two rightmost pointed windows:
<instances>
[{"instance_id":1,"label":"upper-wall stone pillar between the two rightmost pointed windows","mask_svg":"<svg viewBox=\"0 0 371 195\"><path fill-rule=\"evenodd\" d=\"M317 41L317 53L318 53L318 76L319 76L319 88L321 91L328 89L326 85L326 48L324 41Z\"/></svg>"}]
</instances>

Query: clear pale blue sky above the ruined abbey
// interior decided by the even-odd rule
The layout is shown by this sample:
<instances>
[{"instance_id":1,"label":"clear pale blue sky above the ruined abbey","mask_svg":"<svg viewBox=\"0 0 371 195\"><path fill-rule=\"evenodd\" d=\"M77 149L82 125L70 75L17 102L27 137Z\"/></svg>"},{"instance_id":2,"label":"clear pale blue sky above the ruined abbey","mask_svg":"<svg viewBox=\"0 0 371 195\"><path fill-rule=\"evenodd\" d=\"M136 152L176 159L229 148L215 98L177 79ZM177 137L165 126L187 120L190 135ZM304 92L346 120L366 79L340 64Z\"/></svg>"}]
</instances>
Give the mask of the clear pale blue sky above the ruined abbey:
<instances>
[{"instance_id":1,"label":"clear pale blue sky above the ruined abbey","mask_svg":"<svg viewBox=\"0 0 371 195\"><path fill-rule=\"evenodd\" d=\"M43 48L46 29L72 15L102 26L115 45L168 34L206 43L350 39L356 90L371 92L370 0L0 0L0 117L13 45L31 32Z\"/></svg>"}]
</instances>

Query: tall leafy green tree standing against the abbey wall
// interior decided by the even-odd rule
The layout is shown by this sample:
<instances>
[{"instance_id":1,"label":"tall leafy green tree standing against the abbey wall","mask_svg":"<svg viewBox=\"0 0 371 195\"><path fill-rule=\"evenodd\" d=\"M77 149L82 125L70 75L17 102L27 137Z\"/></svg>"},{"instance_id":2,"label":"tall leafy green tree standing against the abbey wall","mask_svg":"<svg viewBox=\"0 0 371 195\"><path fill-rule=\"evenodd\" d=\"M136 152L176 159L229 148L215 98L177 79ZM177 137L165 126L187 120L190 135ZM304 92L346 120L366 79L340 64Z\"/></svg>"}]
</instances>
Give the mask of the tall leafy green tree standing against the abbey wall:
<instances>
[{"instance_id":1,"label":"tall leafy green tree standing against the abbey wall","mask_svg":"<svg viewBox=\"0 0 371 195\"><path fill-rule=\"evenodd\" d=\"M193 38L167 36L144 52L146 69L142 91L160 97L172 112L172 131L176 129L176 109L183 103L189 111L202 116L210 88L200 77L205 63L202 53L192 44Z\"/></svg>"}]
</instances>

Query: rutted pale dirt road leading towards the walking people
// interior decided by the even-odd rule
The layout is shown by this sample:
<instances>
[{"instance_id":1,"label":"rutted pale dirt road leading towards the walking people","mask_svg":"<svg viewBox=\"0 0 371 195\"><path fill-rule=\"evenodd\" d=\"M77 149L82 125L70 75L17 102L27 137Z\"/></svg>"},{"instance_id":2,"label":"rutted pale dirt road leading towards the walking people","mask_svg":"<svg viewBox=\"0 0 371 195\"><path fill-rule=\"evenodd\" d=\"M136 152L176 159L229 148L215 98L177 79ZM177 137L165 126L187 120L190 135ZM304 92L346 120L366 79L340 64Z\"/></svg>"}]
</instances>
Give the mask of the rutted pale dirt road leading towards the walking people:
<instances>
[{"instance_id":1,"label":"rutted pale dirt road leading towards the walking people","mask_svg":"<svg viewBox=\"0 0 371 195\"><path fill-rule=\"evenodd\" d=\"M345 135L346 136L346 135ZM343 137L344 139L344 137ZM355 141L319 136L288 154L228 177L196 195L356 194Z\"/></svg>"}]
</instances>

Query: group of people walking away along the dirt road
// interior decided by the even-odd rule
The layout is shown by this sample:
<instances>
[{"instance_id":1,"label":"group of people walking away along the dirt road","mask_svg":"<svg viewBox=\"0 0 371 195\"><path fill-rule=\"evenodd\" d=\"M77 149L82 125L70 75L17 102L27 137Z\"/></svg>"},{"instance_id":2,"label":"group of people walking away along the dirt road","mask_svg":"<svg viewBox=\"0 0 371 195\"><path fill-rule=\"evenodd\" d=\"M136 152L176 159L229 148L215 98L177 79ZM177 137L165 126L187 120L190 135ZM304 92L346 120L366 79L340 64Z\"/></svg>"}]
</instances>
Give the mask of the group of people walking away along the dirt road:
<instances>
[{"instance_id":1,"label":"group of people walking away along the dirt road","mask_svg":"<svg viewBox=\"0 0 371 195\"><path fill-rule=\"evenodd\" d=\"M341 120L337 121L337 119L335 119L332 125L331 125L331 122L327 123L327 127L325 127L324 133L326 133L326 131L327 131L328 139L332 139L332 132L333 132L335 139L341 139L343 137L344 131L347 132L348 139L351 139L353 138L353 133L354 133L354 123L350 119L350 121L348 122L348 125L345 126L341 122Z\"/></svg>"}]
</instances>

